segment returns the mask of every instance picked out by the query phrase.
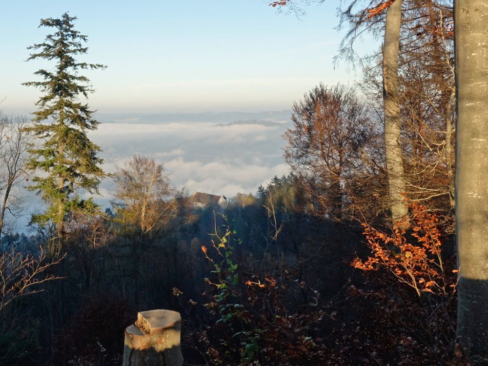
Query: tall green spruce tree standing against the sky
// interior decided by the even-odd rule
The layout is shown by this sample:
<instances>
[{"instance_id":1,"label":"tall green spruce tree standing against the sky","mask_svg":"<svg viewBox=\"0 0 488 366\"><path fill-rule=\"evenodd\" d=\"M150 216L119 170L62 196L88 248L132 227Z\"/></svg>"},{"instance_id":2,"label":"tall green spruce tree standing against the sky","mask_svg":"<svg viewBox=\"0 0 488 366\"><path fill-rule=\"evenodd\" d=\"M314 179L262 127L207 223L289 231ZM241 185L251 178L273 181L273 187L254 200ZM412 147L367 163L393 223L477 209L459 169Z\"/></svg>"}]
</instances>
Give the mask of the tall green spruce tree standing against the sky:
<instances>
[{"instance_id":1,"label":"tall green spruce tree standing against the sky","mask_svg":"<svg viewBox=\"0 0 488 366\"><path fill-rule=\"evenodd\" d=\"M97 157L100 147L86 135L88 130L97 128L98 122L88 104L79 100L80 97L88 98L94 90L88 78L79 75L78 71L106 66L75 59L88 50L82 46L87 37L74 30L73 21L76 19L68 13L64 13L61 19L41 19L39 27L55 28L56 32L48 35L43 43L28 47L37 53L32 53L27 61L45 59L56 61L56 65L53 69L34 73L43 81L23 83L44 93L36 103L37 111L33 112L32 121L35 123L29 127L43 142L29 150L28 167L43 172L33 179L30 189L41 194L49 208L41 215L34 215L32 222L57 223L61 244L67 214L95 207L91 199L81 200L77 191L82 188L98 193L104 177L100 167L102 159Z\"/></svg>"}]
</instances>

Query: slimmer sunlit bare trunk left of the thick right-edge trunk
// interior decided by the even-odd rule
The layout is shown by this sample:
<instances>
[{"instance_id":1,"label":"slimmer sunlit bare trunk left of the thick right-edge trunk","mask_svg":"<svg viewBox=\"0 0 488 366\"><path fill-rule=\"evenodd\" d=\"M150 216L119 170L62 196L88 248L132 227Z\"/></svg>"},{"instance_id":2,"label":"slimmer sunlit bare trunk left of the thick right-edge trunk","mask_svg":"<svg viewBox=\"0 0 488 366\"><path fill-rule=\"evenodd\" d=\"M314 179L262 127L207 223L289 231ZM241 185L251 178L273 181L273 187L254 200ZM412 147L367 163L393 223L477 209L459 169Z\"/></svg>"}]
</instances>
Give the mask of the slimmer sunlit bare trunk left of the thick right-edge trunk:
<instances>
[{"instance_id":1,"label":"slimmer sunlit bare trunk left of the thick right-edge trunk","mask_svg":"<svg viewBox=\"0 0 488 366\"><path fill-rule=\"evenodd\" d=\"M383 102L385 108L385 153L388 171L388 193L394 220L407 215L405 176L400 144L400 101L398 96L398 47L402 22L402 0L386 10L385 42L383 44Z\"/></svg>"}]
</instances>

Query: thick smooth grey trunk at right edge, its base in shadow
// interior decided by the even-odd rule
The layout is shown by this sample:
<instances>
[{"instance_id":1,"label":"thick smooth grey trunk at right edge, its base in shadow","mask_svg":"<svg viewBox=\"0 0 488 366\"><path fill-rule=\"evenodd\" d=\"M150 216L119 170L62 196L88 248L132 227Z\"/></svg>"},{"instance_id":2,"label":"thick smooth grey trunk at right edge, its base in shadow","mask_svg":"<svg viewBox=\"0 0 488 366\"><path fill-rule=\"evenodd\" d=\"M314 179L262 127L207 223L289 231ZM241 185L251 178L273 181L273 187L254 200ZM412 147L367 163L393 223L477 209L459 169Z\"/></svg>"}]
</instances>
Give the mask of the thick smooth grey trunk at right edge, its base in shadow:
<instances>
[{"instance_id":1,"label":"thick smooth grey trunk at right edge, its base in shadow","mask_svg":"<svg viewBox=\"0 0 488 366\"><path fill-rule=\"evenodd\" d=\"M488 365L488 3L454 1L457 332L474 365Z\"/></svg>"}]
</instances>

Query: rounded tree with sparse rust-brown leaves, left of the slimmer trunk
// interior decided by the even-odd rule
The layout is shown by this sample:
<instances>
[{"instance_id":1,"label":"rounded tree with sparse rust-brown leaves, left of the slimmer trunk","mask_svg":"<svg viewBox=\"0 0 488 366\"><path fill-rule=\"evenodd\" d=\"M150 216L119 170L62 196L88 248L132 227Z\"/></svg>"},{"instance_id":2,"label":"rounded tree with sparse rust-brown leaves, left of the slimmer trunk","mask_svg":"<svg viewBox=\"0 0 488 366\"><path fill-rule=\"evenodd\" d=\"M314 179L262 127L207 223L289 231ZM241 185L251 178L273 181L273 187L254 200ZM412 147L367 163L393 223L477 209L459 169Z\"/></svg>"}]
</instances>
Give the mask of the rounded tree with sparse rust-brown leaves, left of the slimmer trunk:
<instances>
[{"instance_id":1,"label":"rounded tree with sparse rust-brown leaves, left of the slimmer trunk","mask_svg":"<svg viewBox=\"0 0 488 366\"><path fill-rule=\"evenodd\" d=\"M300 178L309 209L339 221L355 209L375 216L374 195L381 193L375 191L381 175L375 159L382 156L374 148L379 134L366 103L350 87L320 84L293 105L291 120L285 159Z\"/></svg>"}]
</instances>

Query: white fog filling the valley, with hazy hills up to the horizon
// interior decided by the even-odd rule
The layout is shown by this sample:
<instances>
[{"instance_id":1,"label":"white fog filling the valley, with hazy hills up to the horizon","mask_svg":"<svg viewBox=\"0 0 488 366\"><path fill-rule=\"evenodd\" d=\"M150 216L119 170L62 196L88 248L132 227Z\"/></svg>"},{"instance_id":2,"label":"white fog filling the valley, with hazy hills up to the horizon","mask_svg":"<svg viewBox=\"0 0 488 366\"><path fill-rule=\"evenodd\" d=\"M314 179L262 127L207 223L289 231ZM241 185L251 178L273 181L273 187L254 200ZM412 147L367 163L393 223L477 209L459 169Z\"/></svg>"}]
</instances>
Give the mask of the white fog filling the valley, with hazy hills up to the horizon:
<instances>
[{"instance_id":1,"label":"white fog filling the valley, with hazy hills up to the horizon","mask_svg":"<svg viewBox=\"0 0 488 366\"><path fill-rule=\"evenodd\" d=\"M134 154L163 163L174 187L186 187L232 197L256 192L277 175L288 173L283 158L283 133L291 127L291 111L262 113L99 114L100 122L89 138L102 148L102 168L115 172ZM100 186L97 203L110 206L113 182ZM22 191L28 212L42 210L32 192ZM88 197L89 194L84 192ZM30 213L17 220L15 229L28 231Z\"/></svg>"}]
</instances>

